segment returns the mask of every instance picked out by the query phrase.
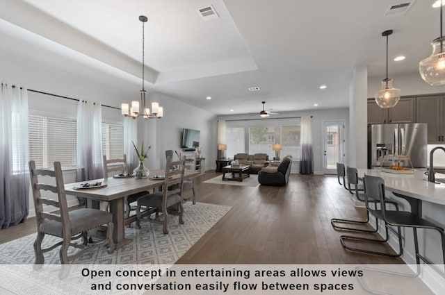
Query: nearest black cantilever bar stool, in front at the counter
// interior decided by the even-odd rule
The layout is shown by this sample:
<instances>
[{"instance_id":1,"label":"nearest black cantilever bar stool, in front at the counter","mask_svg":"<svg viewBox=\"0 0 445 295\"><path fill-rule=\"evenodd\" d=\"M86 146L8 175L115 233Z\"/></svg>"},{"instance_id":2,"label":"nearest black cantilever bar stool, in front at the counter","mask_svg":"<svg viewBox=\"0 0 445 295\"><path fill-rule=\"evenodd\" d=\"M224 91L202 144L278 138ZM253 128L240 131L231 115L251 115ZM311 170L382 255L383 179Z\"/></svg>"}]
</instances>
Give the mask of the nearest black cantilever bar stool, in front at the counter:
<instances>
[{"instance_id":1,"label":"nearest black cantilever bar stool, in front at the counter","mask_svg":"<svg viewBox=\"0 0 445 295\"><path fill-rule=\"evenodd\" d=\"M417 214L414 214L409 211L386 210L386 208L385 208L385 181L382 178L376 177L376 176L365 175L364 176L364 185L365 185L365 189L366 189L366 194L365 194L366 208L369 210L369 212L371 214L373 214L373 216L375 216L375 218L382 219L383 221L385 221L385 228L388 228L388 226L396 226L398 228L398 243L400 246L400 251L397 254L389 254L389 253L369 251L369 250L364 250L364 249L359 249L359 248L350 248L350 247L345 247L345 248L347 248L350 251L371 253L371 254L377 254L377 255L385 255L385 256L390 256L390 257L398 257L398 256L402 255L402 253L403 253L401 227L407 227L407 228L412 228L413 234L414 234L414 250L416 253L416 264L420 264L420 260L422 260L423 262L425 262L427 264L432 264L432 262L430 262L430 260L428 260L428 258L424 257L423 255L421 255L419 253L419 241L417 238L417 228L426 228L426 229L437 230L437 232L439 232L441 239L442 239L442 258L443 258L444 264L445 264L445 233L444 233L443 228L441 228L435 224L432 224L432 222L430 222L426 219L423 219L422 217L418 216ZM376 196L380 200L380 210L375 210L375 209L369 208L369 196ZM386 230L386 234L387 234L387 237L386 237L385 241L382 241L382 242L387 242L388 230ZM344 245L344 240L346 240L346 239L355 239L357 241L362 241L362 242L374 242L374 241L369 241L369 239L364 239L364 238L342 236L341 242L343 245ZM439 272L439 273L441 273L441 272ZM443 273L441 273L441 275L444 276Z\"/></svg>"}]
</instances>

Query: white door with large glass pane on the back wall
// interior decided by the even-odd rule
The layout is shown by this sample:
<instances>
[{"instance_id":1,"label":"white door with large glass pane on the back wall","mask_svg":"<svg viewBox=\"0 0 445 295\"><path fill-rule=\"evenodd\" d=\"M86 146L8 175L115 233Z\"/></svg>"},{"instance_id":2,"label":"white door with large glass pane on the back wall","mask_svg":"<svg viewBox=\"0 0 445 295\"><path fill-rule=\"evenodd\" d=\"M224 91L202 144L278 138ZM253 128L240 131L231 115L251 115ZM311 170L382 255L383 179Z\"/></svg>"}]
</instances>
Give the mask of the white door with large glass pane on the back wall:
<instances>
[{"instance_id":1,"label":"white door with large glass pane on the back wall","mask_svg":"<svg viewBox=\"0 0 445 295\"><path fill-rule=\"evenodd\" d=\"M323 121L323 174L337 174L344 163L344 121Z\"/></svg>"}]
</instances>

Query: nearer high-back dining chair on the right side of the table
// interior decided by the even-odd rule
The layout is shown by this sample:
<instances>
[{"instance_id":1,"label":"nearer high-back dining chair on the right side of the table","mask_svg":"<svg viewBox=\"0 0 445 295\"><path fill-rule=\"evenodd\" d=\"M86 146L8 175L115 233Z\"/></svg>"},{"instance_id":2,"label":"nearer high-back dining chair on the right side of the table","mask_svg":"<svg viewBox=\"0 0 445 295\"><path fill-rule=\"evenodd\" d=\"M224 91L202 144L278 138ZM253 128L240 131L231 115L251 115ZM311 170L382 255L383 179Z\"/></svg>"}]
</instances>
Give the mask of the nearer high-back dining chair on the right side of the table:
<instances>
[{"instance_id":1,"label":"nearer high-back dining chair on the right side of the table","mask_svg":"<svg viewBox=\"0 0 445 295\"><path fill-rule=\"evenodd\" d=\"M182 184L184 180L185 157L178 161L172 161L172 157L167 157L165 165L165 179L162 185L162 192L154 192L138 199L136 208L136 227L140 228L140 221L152 221L163 224L163 233L168 234L168 214L179 215L179 224L184 224L182 216ZM152 214L143 218L143 208L154 210L155 218Z\"/></svg>"}]
</instances>

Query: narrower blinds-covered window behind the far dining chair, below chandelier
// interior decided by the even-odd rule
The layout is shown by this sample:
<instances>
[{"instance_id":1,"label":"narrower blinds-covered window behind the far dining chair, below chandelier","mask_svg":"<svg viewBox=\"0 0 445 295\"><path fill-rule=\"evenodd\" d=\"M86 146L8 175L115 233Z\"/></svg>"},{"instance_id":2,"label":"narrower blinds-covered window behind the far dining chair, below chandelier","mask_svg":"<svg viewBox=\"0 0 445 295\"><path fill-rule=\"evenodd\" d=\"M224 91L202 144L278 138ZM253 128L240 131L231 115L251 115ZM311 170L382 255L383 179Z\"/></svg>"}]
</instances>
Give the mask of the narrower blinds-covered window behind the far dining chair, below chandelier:
<instances>
[{"instance_id":1,"label":"narrower blinds-covered window behind the far dining chair, below chandelier","mask_svg":"<svg viewBox=\"0 0 445 295\"><path fill-rule=\"evenodd\" d=\"M102 153L107 159L124 155L124 126L102 123Z\"/></svg>"}]
</instances>

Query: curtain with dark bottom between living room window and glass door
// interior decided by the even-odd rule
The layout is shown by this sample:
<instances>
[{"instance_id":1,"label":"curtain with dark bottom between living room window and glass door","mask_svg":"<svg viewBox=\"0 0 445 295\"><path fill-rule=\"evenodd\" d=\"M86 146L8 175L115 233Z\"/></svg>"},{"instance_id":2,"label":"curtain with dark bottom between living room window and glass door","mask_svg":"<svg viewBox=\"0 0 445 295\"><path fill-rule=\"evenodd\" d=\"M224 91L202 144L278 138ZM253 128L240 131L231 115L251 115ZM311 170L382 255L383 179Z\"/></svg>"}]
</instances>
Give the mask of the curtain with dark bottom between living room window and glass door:
<instances>
[{"instance_id":1,"label":"curtain with dark bottom between living room window and glass door","mask_svg":"<svg viewBox=\"0 0 445 295\"><path fill-rule=\"evenodd\" d=\"M314 173L314 152L312 151L311 117L301 117L300 174Z\"/></svg>"}]
</instances>

